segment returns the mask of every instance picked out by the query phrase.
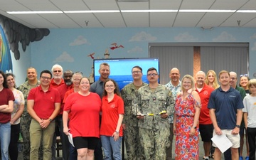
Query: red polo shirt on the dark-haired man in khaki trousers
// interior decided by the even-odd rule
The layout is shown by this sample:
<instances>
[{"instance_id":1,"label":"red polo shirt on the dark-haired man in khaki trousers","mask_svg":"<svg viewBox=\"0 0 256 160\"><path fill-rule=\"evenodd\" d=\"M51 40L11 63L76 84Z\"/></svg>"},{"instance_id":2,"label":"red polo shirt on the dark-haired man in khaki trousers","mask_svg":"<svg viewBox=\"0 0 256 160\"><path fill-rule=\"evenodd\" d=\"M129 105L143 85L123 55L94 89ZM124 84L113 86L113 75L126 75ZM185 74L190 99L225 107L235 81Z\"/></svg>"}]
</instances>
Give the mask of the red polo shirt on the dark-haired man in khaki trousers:
<instances>
[{"instance_id":1,"label":"red polo shirt on the dark-haired man in khaki trousers","mask_svg":"<svg viewBox=\"0 0 256 160\"><path fill-rule=\"evenodd\" d=\"M38 117L48 119L55 110L55 103L60 103L60 93L53 87L49 87L47 92L43 92L39 85L30 90L28 100L34 100L33 110Z\"/></svg>"}]
</instances>

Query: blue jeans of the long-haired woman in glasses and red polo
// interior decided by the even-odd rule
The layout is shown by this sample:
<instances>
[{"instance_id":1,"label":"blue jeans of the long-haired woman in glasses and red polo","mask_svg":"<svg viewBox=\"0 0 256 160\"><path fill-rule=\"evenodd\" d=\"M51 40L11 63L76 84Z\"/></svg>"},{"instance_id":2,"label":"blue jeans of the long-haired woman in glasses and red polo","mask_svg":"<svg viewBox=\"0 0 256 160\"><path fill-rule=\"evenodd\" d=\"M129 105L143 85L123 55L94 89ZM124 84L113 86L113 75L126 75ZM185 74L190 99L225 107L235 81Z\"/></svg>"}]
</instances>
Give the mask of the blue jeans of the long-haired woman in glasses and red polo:
<instances>
[{"instance_id":1,"label":"blue jeans of the long-haired woman in glasses and red polo","mask_svg":"<svg viewBox=\"0 0 256 160\"><path fill-rule=\"evenodd\" d=\"M114 137L110 136L100 136L102 142L102 148L104 151L104 160L121 160L121 143L122 137L119 137L117 141L114 141Z\"/></svg>"}]
</instances>

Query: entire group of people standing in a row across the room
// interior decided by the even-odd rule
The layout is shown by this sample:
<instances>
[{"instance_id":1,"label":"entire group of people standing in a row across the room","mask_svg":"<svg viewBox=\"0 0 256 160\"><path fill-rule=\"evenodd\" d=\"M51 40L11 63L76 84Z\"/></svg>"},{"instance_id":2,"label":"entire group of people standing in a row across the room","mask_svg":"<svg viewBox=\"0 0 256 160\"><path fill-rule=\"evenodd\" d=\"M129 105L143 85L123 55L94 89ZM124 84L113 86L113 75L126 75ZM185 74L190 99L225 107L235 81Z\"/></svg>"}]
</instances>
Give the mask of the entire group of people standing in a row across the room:
<instances>
[{"instance_id":1,"label":"entire group of people standing in a row across the room","mask_svg":"<svg viewBox=\"0 0 256 160\"><path fill-rule=\"evenodd\" d=\"M20 132L24 160L54 160L58 135L63 159L122 159L124 136L127 159L169 160L174 135L175 159L199 159L199 133L205 160L221 159L211 141L221 134L232 143L226 160L243 159L244 136L245 159L255 159L255 79L241 75L238 87L236 73L209 70L180 80L172 68L170 82L161 85L156 68L149 68L146 84L142 68L131 69L133 82L121 91L107 63L100 64L100 79L92 85L81 72L63 72L58 64L39 80L36 69L28 68L27 81L17 89L14 75L0 71L1 159L17 159Z\"/></svg>"}]
</instances>

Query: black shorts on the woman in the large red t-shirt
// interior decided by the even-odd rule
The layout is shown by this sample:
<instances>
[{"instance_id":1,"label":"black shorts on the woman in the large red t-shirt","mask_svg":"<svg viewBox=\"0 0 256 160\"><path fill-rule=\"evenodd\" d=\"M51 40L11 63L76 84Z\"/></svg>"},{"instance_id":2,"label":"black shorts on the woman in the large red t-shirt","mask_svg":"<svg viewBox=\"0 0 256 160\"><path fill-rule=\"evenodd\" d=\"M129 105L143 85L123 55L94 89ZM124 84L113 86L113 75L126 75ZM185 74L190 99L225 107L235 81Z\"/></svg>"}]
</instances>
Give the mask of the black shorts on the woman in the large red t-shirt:
<instances>
[{"instance_id":1,"label":"black shorts on the woman in the large red t-shirt","mask_svg":"<svg viewBox=\"0 0 256 160\"><path fill-rule=\"evenodd\" d=\"M94 150L99 138L97 137L75 137L73 138L73 143L75 145L75 149L92 149Z\"/></svg>"}]
</instances>

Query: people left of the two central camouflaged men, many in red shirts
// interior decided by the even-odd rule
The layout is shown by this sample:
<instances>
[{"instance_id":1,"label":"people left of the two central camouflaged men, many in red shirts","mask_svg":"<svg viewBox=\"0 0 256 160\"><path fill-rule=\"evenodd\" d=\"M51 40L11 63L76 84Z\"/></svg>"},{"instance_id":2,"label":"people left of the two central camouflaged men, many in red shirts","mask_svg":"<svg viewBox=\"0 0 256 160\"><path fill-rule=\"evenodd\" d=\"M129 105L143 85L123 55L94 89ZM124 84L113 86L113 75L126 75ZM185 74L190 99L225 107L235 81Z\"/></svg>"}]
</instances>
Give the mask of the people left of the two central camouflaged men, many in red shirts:
<instances>
[{"instance_id":1,"label":"people left of the two central camouflaged men, many in red shirts","mask_svg":"<svg viewBox=\"0 0 256 160\"><path fill-rule=\"evenodd\" d=\"M39 80L31 67L17 90L14 75L0 71L1 159L18 159L20 132L24 160L55 159L58 135L63 159L102 159L102 149L105 159L122 159L124 102L117 83L108 78L110 65L102 63L99 72L100 80L90 86L81 72L63 72L58 64L51 72L43 70ZM97 146L101 157L94 157Z\"/></svg>"}]
</instances>

